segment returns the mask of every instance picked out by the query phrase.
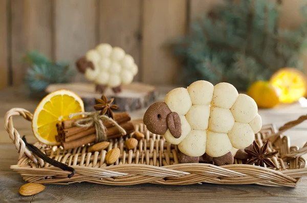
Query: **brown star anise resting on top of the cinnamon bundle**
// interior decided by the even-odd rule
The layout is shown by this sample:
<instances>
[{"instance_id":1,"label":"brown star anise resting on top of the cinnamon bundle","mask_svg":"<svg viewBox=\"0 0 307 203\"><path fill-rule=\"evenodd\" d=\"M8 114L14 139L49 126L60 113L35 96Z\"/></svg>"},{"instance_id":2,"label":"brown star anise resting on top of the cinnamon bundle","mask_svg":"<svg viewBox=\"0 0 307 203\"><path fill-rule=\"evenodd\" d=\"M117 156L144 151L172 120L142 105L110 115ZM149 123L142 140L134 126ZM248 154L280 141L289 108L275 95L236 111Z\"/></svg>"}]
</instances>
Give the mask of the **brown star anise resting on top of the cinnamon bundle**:
<instances>
[{"instance_id":1,"label":"brown star anise resting on top of the cinnamon bundle","mask_svg":"<svg viewBox=\"0 0 307 203\"><path fill-rule=\"evenodd\" d=\"M101 96L101 99L96 99L96 104L94 105L94 108L96 110L101 110L101 115L106 115L112 119L114 119L113 110L118 109L118 106L115 104L112 104L114 101L114 98L107 101L107 98L105 95Z\"/></svg>"}]
</instances>

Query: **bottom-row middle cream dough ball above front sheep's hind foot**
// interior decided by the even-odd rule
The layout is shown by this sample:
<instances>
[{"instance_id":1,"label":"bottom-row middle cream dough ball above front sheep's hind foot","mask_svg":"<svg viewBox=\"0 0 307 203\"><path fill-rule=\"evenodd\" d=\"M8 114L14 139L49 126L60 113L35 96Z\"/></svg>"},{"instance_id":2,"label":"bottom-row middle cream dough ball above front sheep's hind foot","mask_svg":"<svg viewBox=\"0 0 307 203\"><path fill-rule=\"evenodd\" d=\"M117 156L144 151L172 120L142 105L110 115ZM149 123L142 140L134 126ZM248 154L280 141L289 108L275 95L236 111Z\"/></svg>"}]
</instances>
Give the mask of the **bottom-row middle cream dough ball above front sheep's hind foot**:
<instances>
[{"instance_id":1,"label":"bottom-row middle cream dough ball above front sheep's hind foot","mask_svg":"<svg viewBox=\"0 0 307 203\"><path fill-rule=\"evenodd\" d=\"M212 157L223 156L227 154L232 145L226 133L207 131L206 153Z\"/></svg>"}]
</instances>

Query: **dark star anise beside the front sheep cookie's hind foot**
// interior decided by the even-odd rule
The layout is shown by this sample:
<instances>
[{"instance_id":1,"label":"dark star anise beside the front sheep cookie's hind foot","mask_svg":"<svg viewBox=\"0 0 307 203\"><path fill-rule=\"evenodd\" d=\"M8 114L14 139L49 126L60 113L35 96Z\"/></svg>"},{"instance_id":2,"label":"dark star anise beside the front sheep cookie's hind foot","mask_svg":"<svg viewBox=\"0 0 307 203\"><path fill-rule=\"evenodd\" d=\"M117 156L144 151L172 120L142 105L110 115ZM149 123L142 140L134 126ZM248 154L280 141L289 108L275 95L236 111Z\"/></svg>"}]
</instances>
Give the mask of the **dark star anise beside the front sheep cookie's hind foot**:
<instances>
[{"instance_id":1,"label":"dark star anise beside the front sheep cookie's hind foot","mask_svg":"<svg viewBox=\"0 0 307 203\"><path fill-rule=\"evenodd\" d=\"M253 142L253 150L245 149L245 152L248 153L251 158L246 164L255 164L256 166L264 167L266 164L268 167L276 168L275 164L271 161L271 157L276 155L278 151L268 152L268 141L260 147L256 141Z\"/></svg>"}]
</instances>

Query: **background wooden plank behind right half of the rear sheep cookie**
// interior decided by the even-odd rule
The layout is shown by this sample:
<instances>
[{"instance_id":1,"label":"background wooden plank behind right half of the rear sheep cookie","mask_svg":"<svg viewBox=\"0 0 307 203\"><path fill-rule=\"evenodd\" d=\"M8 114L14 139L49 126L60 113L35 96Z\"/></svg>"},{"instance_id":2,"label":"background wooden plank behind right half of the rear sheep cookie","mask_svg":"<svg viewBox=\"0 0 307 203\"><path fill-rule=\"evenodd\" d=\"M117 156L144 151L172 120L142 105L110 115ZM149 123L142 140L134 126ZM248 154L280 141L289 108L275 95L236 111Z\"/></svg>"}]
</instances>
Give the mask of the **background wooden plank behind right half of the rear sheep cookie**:
<instances>
[{"instance_id":1,"label":"background wooden plank behind right half of the rear sheep cookie","mask_svg":"<svg viewBox=\"0 0 307 203\"><path fill-rule=\"evenodd\" d=\"M141 0L99 1L99 42L121 47L134 57L140 80Z\"/></svg>"}]
</instances>

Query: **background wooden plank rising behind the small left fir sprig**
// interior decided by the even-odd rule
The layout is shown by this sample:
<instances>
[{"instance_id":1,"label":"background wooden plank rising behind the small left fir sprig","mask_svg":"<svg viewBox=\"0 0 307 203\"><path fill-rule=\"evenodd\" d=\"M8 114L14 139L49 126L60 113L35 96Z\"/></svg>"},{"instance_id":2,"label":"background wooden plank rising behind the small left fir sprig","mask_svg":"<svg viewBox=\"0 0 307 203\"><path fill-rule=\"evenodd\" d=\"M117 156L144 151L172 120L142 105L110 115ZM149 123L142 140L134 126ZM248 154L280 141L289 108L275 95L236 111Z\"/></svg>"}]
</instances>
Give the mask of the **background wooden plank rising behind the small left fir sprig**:
<instances>
[{"instance_id":1,"label":"background wooden plank rising behind the small left fir sprig","mask_svg":"<svg viewBox=\"0 0 307 203\"><path fill-rule=\"evenodd\" d=\"M13 84L23 83L27 66L23 56L37 50L52 56L51 0L11 1Z\"/></svg>"}]
</instances>

